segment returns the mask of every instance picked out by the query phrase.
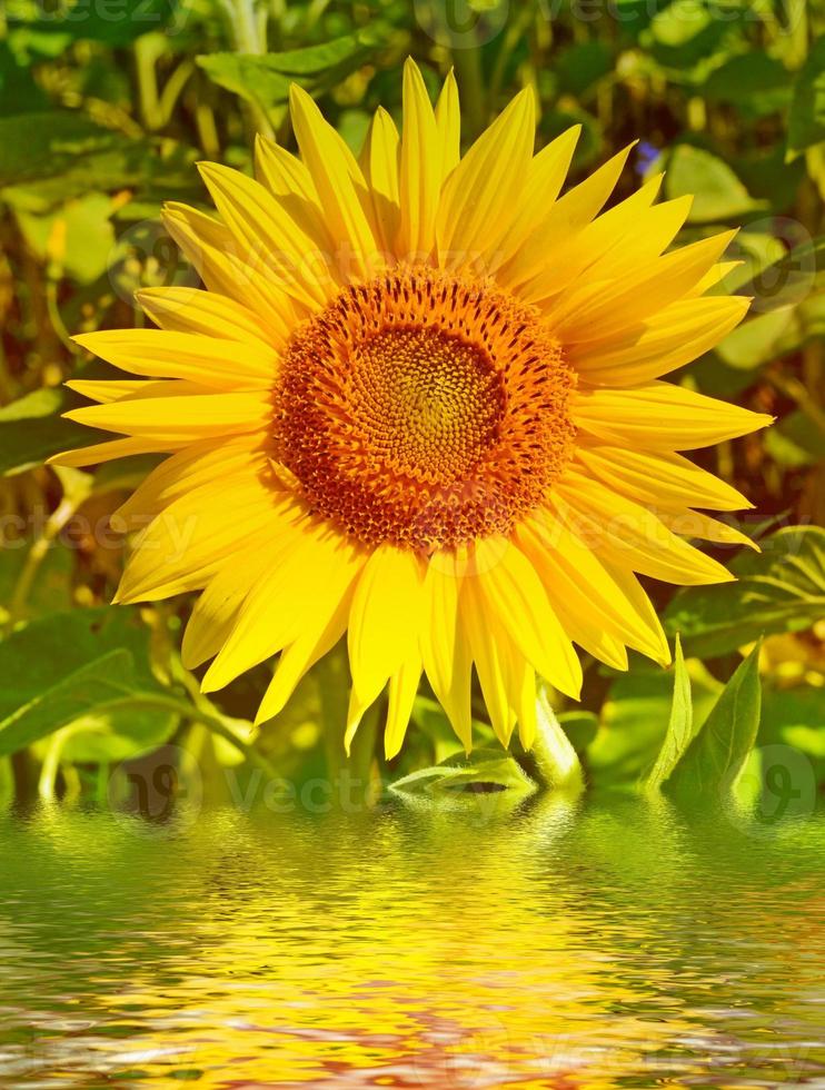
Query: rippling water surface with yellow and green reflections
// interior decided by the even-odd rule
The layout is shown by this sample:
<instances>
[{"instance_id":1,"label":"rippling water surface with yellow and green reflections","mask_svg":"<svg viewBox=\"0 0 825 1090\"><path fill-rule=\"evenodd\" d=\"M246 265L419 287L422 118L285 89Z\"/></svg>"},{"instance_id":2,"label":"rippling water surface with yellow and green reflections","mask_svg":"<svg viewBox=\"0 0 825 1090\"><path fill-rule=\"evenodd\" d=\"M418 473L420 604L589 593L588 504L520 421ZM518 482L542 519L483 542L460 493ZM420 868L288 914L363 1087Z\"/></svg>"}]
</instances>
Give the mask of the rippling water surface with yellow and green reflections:
<instances>
[{"instance_id":1,"label":"rippling water surface with yellow and green reflections","mask_svg":"<svg viewBox=\"0 0 825 1090\"><path fill-rule=\"evenodd\" d=\"M825 1078L823 825L665 804L0 825L0 1084Z\"/></svg>"}]
</instances>

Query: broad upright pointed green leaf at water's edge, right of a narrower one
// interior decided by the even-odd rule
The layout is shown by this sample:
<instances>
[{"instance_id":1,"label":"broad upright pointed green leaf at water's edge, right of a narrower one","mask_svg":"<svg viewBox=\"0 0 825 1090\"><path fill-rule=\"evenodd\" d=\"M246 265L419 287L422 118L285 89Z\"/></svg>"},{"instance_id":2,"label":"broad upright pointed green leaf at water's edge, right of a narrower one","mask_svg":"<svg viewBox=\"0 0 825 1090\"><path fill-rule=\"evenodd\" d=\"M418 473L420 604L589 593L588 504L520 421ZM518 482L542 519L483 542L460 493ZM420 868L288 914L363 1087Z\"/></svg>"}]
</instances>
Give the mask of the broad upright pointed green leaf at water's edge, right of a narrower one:
<instances>
[{"instance_id":1,"label":"broad upright pointed green leaf at water's edge, right of a narrower one","mask_svg":"<svg viewBox=\"0 0 825 1090\"><path fill-rule=\"evenodd\" d=\"M730 795L756 743L762 685L759 644L739 664L702 730L665 783L685 802L720 801Z\"/></svg>"}]
</instances>

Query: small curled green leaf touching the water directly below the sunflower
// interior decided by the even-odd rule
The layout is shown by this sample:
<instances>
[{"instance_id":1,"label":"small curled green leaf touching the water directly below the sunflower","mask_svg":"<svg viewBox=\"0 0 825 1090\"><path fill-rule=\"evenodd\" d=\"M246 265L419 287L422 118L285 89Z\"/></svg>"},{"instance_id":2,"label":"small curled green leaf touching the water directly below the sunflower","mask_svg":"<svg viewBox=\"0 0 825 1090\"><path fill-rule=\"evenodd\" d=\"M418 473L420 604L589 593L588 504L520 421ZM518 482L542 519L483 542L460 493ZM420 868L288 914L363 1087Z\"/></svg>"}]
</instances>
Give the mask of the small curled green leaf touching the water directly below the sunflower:
<instances>
[{"instance_id":1,"label":"small curled green leaf touching the water directly below the sunflower","mask_svg":"<svg viewBox=\"0 0 825 1090\"><path fill-rule=\"evenodd\" d=\"M447 757L440 764L420 769L390 784L391 792L446 805L460 804L461 797L507 793L517 800L536 790L518 761L501 750L475 750Z\"/></svg>"}]
</instances>

